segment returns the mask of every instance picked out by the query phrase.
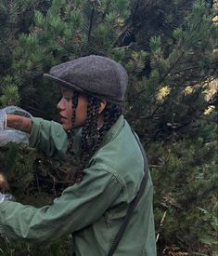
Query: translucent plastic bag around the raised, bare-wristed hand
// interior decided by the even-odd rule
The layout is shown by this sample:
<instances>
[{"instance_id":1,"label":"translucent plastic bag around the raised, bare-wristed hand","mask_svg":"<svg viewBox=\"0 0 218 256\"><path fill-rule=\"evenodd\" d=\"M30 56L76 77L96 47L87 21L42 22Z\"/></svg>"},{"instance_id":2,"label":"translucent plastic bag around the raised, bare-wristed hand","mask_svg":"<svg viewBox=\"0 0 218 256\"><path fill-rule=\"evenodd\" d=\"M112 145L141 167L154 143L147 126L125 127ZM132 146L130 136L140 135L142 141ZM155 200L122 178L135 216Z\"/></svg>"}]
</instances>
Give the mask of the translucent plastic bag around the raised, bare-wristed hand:
<instances>
[{"instance_id":1,"label":"translucent plastic bag around the raised, bare-wristed hand","mask_svg":"<svg viewBox=\"0 0 218 256\"><path fill-rule=\"evenodd\" d=\"M29 144L30 134L27 132L20 131L15 128L5 128L6 126L6 115L21 115L32 118L32 115L27 111L17 107L8 106L0 110L0 147L5 146L8 142L25 143Z\"/></svg>"}]
</instances>

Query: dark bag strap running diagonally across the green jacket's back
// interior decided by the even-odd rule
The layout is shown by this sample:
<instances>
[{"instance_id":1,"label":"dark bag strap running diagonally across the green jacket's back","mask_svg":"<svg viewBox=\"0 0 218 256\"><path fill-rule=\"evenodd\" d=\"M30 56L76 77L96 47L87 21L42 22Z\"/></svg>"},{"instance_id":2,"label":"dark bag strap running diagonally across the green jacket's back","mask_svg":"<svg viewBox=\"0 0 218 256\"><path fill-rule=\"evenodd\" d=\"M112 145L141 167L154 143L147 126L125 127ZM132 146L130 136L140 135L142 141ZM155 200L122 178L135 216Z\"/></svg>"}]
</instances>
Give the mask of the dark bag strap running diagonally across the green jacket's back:
<instances>
[{"instance_id":1,"label":"dark bag strap running diagonally across the green jacket's back","mask_svg":"<svg viewBox=\"0 0 218 256\"><path fill-rule=\"evenodd\" d=\"M144 174L144 177L143 177L142 182L140 184L140 188L138 190L138 193L135 196L134 200L130 203L130 206L129 206L128 210L127 210L126 216L125 216L125 218L124 218L124 220L122 222L122 226L120 227L117 235L115 236L114 242L113 242L111 248L109 249L108 256L112 256L114 251L117 249L117 247L118 247L118 245L119 245L119 243L120 243L120 241L122 239L122 235L124 234L125 229L126 229L126 227L128 225L128 222L130 221L130 218L131 218L131 216L134 213L134 209L135 209L138 201L140 200L141 196L143 195L143 193L145 191L146 184L147 184L147 179L148 179L147 156L146 156L146 153L144 151L144 148L143 148L141 142L139 141L138 137L135 135L135 131L133 129L132 129L132 131L133 131L133 134L135 136L135 140L138 142L138 145L139 145L140 150L142 152L142 155L144 157L144 172L145 172L145 174Z\"/></svg>"}]
</instances>

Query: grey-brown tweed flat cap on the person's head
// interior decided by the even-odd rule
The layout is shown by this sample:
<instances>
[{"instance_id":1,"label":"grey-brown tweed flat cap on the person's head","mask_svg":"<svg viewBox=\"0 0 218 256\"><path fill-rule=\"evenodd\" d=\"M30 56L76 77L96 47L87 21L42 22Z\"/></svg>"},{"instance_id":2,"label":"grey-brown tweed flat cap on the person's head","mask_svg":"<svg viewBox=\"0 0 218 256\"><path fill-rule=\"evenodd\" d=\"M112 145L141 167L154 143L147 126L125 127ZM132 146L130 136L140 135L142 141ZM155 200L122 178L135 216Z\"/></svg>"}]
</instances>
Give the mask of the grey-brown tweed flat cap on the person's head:
<instances>
[{"instance_id":1,"label":"grey-brown tweed flat cap on the person's head","mask_svg":"<svg viewBox=\"0 0 218 256\"><path fill-rule=\"evenodd\" d=\"M54 66L44 76L65 88L115 103L122 103L128 83L128 75L121 64L96 55Z\"/></svg>"}]
</instances>

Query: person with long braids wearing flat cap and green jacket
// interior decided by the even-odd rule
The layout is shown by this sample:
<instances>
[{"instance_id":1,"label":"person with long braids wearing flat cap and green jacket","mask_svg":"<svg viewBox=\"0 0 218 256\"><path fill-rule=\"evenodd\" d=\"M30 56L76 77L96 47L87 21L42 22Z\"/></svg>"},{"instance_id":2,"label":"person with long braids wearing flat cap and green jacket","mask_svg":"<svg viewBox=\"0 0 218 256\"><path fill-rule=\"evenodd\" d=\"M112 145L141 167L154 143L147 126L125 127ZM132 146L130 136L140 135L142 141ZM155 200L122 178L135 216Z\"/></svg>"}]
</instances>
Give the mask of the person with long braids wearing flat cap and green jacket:
<instances>
[{"instance_id":1,"label":"person with long braids wearing flat cap and green jacket","mask_svg":"<svg viewBox=\"0 0 218 256\"><path fill-rule=\"evenodd\" d=\"M74 184L52 205L35 208L0 194L0 234L33 243L71 234L76 256L109 255L147 165L122 115L127 74L116 61L91 55L54 66L45 77L62 90L61 124L10 114L5 127L30 133L30 145L45 155L67 160L78 155L81 161ZM113 255L156 255L152 197L148 173Z\"/></svg>"}]
</instances>

